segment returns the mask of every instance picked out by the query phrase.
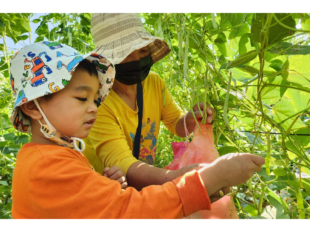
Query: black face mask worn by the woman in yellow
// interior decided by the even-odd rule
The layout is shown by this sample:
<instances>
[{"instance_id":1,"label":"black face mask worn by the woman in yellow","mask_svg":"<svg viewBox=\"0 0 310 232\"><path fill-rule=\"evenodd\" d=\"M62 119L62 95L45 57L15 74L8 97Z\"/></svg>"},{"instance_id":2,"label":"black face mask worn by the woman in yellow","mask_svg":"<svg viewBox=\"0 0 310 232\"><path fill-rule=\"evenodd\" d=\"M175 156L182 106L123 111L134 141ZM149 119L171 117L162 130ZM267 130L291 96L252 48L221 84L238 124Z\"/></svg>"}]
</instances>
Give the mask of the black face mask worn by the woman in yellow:
<instances>
[{"instance_id":1,"label":"black face mask worn by the woman in yellow","mask_svg":"<svg viewBox=\"0 0 310 232\"><path fill-rule=\"evenodd\" d=\"M126 85L138 84L148 76L152 65L151 54L137 61L115 64L115 79Z\"/></svg>"}]
</instances>

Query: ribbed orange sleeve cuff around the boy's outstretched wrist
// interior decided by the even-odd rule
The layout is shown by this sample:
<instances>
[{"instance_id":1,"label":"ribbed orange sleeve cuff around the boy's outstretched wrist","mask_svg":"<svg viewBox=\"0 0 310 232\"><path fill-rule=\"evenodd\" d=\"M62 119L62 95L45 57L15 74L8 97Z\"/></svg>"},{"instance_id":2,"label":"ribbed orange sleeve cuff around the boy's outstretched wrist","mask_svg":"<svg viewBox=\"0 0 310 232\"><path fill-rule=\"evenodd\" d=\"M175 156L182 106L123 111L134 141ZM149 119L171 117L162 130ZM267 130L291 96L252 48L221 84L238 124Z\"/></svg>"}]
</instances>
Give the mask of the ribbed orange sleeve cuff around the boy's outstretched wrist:
<instances>
[{"instance_id":1,"label":"ribbed orange sleeve cuff around the boy's outstretched wrist","mask_svg":"<svg viewBox=\"0 0 310 232\"><path fill-rule=\"evenodd\" d=\"M188 172L172 182L181 198L185 217L199 210L211 209L208 193L196 170Z\"/></svg>"}]
</instances>

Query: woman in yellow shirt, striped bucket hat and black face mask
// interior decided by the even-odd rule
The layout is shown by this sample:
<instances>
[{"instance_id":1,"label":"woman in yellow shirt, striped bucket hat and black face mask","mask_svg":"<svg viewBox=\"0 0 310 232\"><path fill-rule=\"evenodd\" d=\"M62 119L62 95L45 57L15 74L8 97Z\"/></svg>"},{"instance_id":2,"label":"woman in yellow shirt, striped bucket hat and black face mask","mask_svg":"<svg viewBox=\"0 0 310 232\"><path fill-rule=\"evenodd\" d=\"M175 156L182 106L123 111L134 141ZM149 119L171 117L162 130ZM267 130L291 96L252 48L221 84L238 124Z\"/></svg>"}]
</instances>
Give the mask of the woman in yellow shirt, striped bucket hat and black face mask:
<instances>
[{"instance_id":1,"label":"woman in yellow shirt, striped bucket hat and black face mask","mask_svg":"<svg viewBox=\"0 0 310 232\"><path fill-rule=\"evenodd\" d=\"M160 121L173 134L185 137L184 117L189 133L195 119L176 104L166 84L158 74L150 71L153 63L165 57L170 49L165 41L145 31L139 14L96 13L91 16L91 30L95 49L113 61L116 75L110 94L98 108L98 118L90 135L84 139L84 155L94 169L102 173L104 167L119 166L126 174L128 186L141 189L160 185L184 173L201 168L194 164L177 171L153 166L157 149ZM142 84L143 117L138 160L133 156L138 126L137 84ZM164 102L165 101L165 102ZM199 104L201 110L203 104ZM196 118L202 115L197 104ZM207 122L215 110L207 104Z\"/></svg>"}]
</instances>

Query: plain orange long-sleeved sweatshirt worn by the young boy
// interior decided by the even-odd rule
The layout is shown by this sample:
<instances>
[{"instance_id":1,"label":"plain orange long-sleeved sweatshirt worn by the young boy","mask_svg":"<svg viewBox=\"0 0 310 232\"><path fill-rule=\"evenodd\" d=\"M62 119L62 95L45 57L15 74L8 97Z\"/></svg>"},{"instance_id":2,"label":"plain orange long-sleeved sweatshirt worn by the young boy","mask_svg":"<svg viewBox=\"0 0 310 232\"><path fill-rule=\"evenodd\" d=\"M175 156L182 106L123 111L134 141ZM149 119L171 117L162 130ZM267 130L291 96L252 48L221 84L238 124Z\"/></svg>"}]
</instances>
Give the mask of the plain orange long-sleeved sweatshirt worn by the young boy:
<instances>
[{"instance_id":1,"label":"plain orange long-sleeved sweatshirt worn by the young boy","mask_svg":"<svg viewBox=\"0 0 310 232\"><path fill-rule=\"evenodd\" d=\"M209 209L197 171L141 191L91 169L80 152L24 144L12 181L13 218L182 218Z\"/></svg>"}]
</instances>

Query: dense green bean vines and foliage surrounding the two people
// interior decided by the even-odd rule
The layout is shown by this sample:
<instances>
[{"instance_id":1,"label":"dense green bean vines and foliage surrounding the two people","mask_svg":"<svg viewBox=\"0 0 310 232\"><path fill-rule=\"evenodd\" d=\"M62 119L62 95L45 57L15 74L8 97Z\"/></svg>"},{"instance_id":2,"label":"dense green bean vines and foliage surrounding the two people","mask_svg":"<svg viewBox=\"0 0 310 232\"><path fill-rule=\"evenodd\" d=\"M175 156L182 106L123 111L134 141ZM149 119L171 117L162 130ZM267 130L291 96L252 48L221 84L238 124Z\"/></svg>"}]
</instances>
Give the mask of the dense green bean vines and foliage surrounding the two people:
<instances>
[{"instance_id":1,"label":"dense green bean vines and foliage surrounding the two people","mask_svg":"<svg viewBox=\"0 0 310 232\"><path fill-rule=\"evenodd\" d=\"M0 13L0 218L11 217L15 157L29 139L9 122L13 99L8 59L13 54L5 36L16 43L29 40L32 17L39 23L36 41L60 41L85 53L94 48L90 15L48 14L37 19L33 14ZM266 158L259 173L232 188L239 217L309 218L310 16L152 13L141 17L145 28L172 49L152 69L165 80L180 107L188 111L204 101L215 108L214 139L220 155L249 152ZM172 160L170 143L180 140L161 125L157 166Z\"/></svg>"}]
</instances>

